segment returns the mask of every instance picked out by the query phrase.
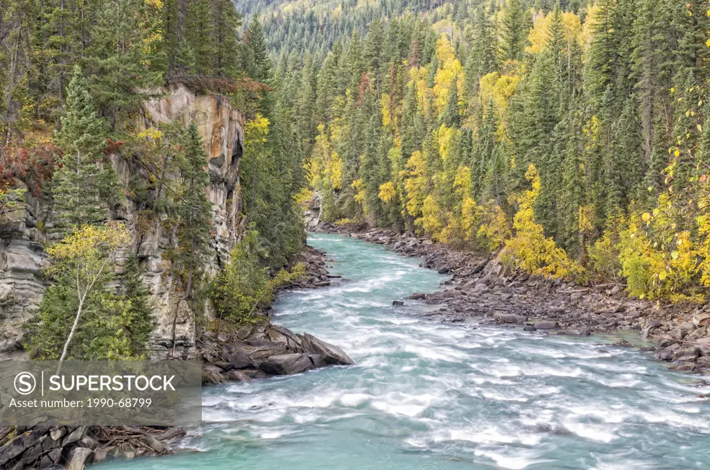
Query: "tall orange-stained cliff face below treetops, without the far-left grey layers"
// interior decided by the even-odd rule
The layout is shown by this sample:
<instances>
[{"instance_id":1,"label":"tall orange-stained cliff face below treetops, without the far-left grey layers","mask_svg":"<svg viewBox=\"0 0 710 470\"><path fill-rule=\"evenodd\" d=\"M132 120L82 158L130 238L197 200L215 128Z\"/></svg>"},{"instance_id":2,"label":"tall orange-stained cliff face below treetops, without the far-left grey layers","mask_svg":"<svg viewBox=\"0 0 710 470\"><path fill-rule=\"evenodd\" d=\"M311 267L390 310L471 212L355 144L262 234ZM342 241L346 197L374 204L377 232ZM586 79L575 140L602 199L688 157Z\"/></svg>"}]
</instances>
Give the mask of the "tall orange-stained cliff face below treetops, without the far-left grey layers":
<instances>
[{"instance_id":1,"label":"tall orange-stained cliff face below treetops, without the far-left grey layers","mask_svg":"<svg viewBox=\"0 0 710 470\"><path fill-rule=\"evenodd\" d=\"M146 103L140 125L143 129L157 128L175 119L185 124L195 121L207 153L205 165L211 183L207 197L212 202L213 215L213 253L207 263L207 271L214 274L226 261L229 251L243 231L239 221L239 160L244 151L244 120L225 97L196 95L178 86L170 89L167 96ZM116 160L126 161L121 158ZM124 183L141 171L124 166L119 170L119 177ZM127 209L129 228L138 221L138 211L138 207L129 206ZM166 354L172 354L173 346L176 353L192 351L196 335L195 315L185 302L180 302L180 295L175 292L175 280L170 275L169 263L163 259L163 252L170 248L170 234L160 223L153 224L142 236L136 237L135 243L138 258L146 271L144 282L153 296L156 322L151 335L153 359L163 359Z\"/></svg>"}]
</instances>

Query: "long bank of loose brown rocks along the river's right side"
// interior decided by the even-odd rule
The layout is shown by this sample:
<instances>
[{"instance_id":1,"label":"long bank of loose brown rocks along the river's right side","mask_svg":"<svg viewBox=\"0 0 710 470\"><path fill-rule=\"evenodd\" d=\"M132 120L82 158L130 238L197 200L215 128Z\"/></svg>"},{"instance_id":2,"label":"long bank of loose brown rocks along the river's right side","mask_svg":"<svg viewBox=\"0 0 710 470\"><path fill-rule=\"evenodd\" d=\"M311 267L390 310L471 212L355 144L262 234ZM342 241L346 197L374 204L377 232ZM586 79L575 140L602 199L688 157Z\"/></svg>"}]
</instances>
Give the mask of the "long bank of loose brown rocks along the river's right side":
<instances>
[{"instance_id":1,"label":"long bank of loose brown rocks along the river's right side","mask_svg":"<svg viewBox=\"0 0 710 470\"><path fill-rule=\"evenodd\" d=\"M522 327L531 334L638 331L657 344L645 349L657 359L670 361L675 370L710 373L710 305L657 304L628 297L621 284L577 285L537 278L506 270L497 258L482 258L409 234L330 224L319 224L315 231L351 234L403 256L420 257L420 266L451 275L445 290L410 296L442 305L432 314L441 321L475 320Z\"/></svg>"}]
</instances>

